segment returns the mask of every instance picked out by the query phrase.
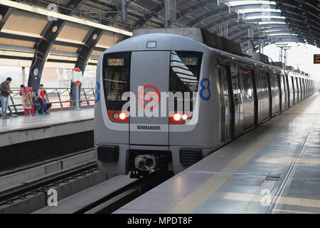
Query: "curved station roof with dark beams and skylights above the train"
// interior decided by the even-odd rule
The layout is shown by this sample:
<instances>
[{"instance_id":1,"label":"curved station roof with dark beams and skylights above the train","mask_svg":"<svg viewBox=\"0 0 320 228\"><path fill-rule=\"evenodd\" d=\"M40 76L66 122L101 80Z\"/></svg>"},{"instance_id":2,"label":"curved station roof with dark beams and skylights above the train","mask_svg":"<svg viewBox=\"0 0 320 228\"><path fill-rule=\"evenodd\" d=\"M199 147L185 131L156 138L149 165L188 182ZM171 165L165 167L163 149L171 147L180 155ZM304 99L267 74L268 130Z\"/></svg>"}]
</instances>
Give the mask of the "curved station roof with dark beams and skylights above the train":
<instances>
[{"instance_id":1,"label":"curved station roof with dark beams and skylights above the train","mask_svg":"<svg viewBox=\"0 0 320 228\"><path fill-rule=\"evenodd\" d=\"M98 56L132 36L134 28L164 27L164 0L127 0L124 22L120 5L121 0L1 0L1 65L31 66L35 58L46 58L45 67L83 63L94 69ZM170 0L169 25L206 28L240 43L243 51L248 39L255 45L319 46L319 8L319 0ZM55 18L59 26L53 26Z\"/></svg>"}]
</instances>

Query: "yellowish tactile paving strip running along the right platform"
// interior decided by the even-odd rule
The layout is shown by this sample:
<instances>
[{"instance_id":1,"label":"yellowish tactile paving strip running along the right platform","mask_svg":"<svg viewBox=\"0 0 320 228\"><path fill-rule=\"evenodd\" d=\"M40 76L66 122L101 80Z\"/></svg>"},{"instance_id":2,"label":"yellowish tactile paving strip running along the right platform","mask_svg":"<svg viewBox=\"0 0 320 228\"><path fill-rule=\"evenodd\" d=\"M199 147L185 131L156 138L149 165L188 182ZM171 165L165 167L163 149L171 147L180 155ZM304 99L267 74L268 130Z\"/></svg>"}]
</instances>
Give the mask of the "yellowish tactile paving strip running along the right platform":
<instances>
[{"instance_id":1,"label":"yellowish tactile paving strip running along the right platform","mask_svg":"<svg viewBox=\"0 0 320 228\"><path fill-rule=\"evenodd\" d=\"M313 101L313 100L312 100ZM302 107L306 107L309 105L311 101L308 103L304 103ZM302 108L301 107L301 108ZM285 125L289 124L296 116L296 115L289 115L289 118L285 120ZM269 133L264 135L262 138L257 140L252 146L250 146L247 150L242 152L238 157L230 162L228 165L223 167L220 172L238 172L240 168L245 165L249 160L252 159L253 156L259 152L262 147L267 145L267 143L274 138L274 133ZM198 189L191 192L188 196L183 198L178 204L176 204L173 208L171 208L167 213L168 214L191 214L198 209L206 200L213 195L213 193L218 190L221 185L228 181L228 179L232 175L230 174L215 174L210 177L206 182L204 182Z\"/></svg>"}]
</instances>

